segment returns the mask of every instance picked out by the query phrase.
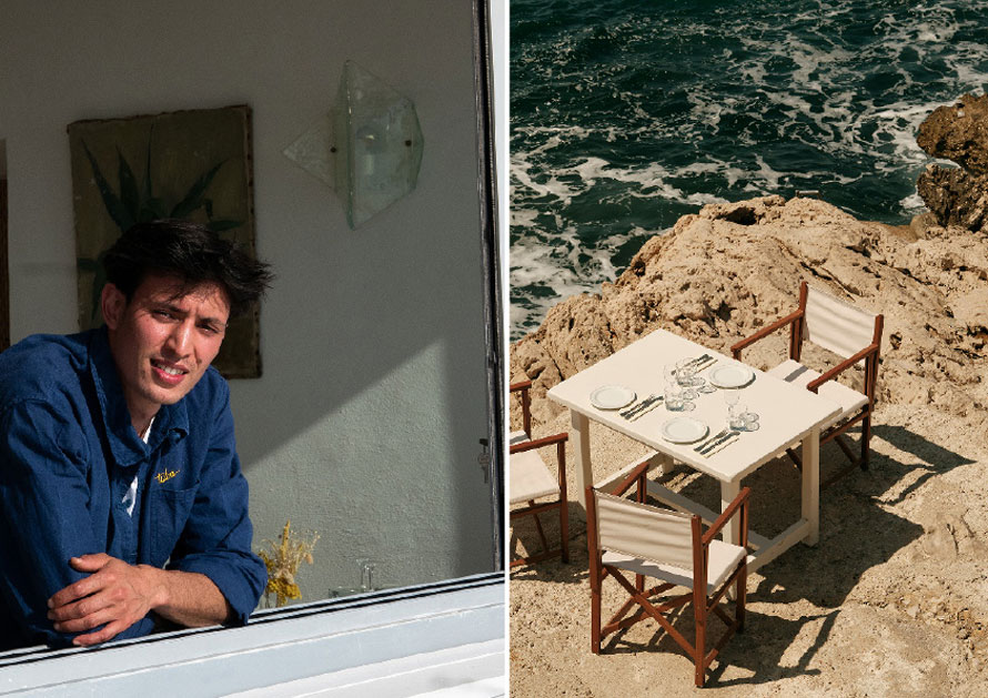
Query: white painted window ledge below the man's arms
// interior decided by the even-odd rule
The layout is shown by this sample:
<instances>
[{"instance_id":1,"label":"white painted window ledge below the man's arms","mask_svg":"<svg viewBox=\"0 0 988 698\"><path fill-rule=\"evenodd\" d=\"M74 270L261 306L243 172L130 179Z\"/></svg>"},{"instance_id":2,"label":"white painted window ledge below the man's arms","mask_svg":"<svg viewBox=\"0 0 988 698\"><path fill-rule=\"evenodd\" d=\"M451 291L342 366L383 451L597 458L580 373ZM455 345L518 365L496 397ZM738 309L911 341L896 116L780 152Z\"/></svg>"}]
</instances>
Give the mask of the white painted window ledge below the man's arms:
<instances>
[{"instance_id":1,"label":"white painted window ledge below the man's arms","mask_svg":"<svg viewBox=\"0 0 988 698\"><path fill-rule=\"evenodd\" d=\"M501 573L258 611L243 628L0 653L0 696L506 694Z\"/></svg>"}]
</instances>

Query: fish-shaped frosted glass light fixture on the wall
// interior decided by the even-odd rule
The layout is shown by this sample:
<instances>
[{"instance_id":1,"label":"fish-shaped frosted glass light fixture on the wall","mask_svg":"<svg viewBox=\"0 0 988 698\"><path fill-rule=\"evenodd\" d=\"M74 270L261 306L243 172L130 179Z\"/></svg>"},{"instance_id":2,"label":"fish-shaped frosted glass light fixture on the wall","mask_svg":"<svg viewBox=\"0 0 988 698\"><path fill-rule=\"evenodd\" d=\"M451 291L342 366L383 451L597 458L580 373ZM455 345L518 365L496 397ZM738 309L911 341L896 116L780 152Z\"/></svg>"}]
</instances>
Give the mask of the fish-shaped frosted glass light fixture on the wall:
<instances>
[{"instance_id":1,"label":"fish-shaped frosted glass light fixture on the wall","mask_svg":"<svg viewBox=\"0 0 988 698\"><path fill-rule=\"evenodd\" d=\"M332 180L354 229L415 189L422 148L412 101L346 61L329 118L284 154L327 184Z\"/></svg>"}]
</instances>

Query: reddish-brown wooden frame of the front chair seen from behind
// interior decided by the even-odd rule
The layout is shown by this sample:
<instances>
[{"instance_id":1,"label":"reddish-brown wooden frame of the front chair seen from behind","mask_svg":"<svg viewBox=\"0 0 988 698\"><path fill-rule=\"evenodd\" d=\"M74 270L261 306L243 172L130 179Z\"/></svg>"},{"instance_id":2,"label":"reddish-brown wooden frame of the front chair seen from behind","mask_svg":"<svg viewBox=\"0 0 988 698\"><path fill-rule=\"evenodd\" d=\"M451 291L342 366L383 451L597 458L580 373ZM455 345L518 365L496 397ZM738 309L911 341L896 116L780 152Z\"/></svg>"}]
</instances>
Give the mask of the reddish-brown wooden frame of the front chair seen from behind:
<instances>
[{"instance_id":1,"label":"reddish-brown wooden frame of the front chair seen from behind","mask_svg":"<svg viewBox=\"0 0 988 698\"><path fill-rule=\"evenodd\" d=\"M645 477L648 473L649 464L642 463L632 471L628 476L622 480L613 494L621 496L633 485L638 485L636 500L645 502L646 482ZM587 525L587 548L589 550L589 580L591 580L591 649L595 655L601 654L601 641L617 630L629 628L639 620L645 618L655 619L662 628L689 655L695 665L695 682L696 686L703 688L706 680L706 671L710 662L720 653L720 649L729 640L734 634L744 631L745 625L745 585L747 583L747 555L744 556L737 568L727 577L724 584L714 591L713 595L707 594L707 560L709 558L710 542L720 533L725 524L735 516L740 516L740 543L743 547L748 544L748 498L750 497L750 488L745 487L738 496L724 509L724 513L715 520L706 533L703 532L703 524L699 516L692 517L690 526L693 532L693 589L686 594L664 597L662 603L653 604L652 597L663 594L676 587L671 583L662 583L649 589L645 588L645 579L641 574L635 575L635 583L625 578L625 576L616 567L605 565L602 556L603 550L597 547L597 513L596 499L594 497L594 488L586 488L586 525ZM601 589L606 577L614 579L628 593L631 598L617 610L617 613L602 627L601 625ZM735 614L732 618L720 606L720 599L727 593L727 589L735 585L736 603ZM663 616L663 613L674 610L689 603L693 603L696 637L693 644L683 636L672 624L672 620ZM634 615L626 617L628 613L638 606ZM706 650L707 645L707 620L710 615L716 615L726 626L724 634L712 647Z\"/></svg>"}]
</instances>

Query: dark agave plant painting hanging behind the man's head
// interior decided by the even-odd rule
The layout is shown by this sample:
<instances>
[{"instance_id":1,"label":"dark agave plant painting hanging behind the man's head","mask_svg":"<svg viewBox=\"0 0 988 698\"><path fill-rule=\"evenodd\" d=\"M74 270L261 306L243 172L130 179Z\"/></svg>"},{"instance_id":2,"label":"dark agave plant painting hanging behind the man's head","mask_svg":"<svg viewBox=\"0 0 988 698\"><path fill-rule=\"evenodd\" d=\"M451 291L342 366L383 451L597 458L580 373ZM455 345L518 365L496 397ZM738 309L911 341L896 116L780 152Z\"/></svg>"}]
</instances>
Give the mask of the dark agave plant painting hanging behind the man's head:
<instances>
[{"instance_id":1,"label":"dark agave plant painting hanging behind the man's head","mask_svg":"<svg viewBox=\"0 0 988 698\"><path fill-rule=\"evenodd\" d=\"M134 223L193 220L254 253L250 121L239 105L69 124L81 328L102 323L102 256ZM256 377L259 352L255 308L231 322L214 365Z\"/></svg>"}]
</instances>

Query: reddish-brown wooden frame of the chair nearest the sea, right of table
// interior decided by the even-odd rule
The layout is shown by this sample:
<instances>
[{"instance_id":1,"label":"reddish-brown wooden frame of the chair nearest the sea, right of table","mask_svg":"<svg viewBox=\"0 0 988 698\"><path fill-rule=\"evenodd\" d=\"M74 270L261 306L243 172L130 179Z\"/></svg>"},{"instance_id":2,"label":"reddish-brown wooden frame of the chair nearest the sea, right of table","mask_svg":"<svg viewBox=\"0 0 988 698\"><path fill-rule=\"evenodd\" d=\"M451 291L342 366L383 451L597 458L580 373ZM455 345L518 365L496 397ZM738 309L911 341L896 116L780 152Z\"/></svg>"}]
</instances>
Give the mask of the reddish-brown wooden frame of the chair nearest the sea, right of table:
<instances>
[{"instance_id":1,"label":"reddish-brown wooden frame of the chair nearest the sea, right of table","mask_svg":"<svg viewBox=\"0 0 988 698\"><path fill-rule=\"evenodd\" d=\"M755 342L759 340L764 340L772 333L782 330L783 327L789 326L789 358L795 362L799 362L799 357L803 352L803 341L805 333L805 322L806 322L806 299L808 295L808 286L806 282L800 282L799 284L799 307L772 323L770 325L766 325L755 334L750 335L737 342L730 347L730 353L734 355L736 360L740 360L742 350L747 346L750 346ZM841 372L850 368L855 364L859 363L864 360L865 362L865 376L864 376L864 394L868 398L868 402L856 413L853 413L848 417L839 421L837 424L828 427L827 429L820 433L820 445L823 446L825 443L829 441L834 441L840 449L844 452L844 455L850 461L850 465L841 468L835 475L825 480L820 488L826 488L829 485L834 484L837 479L853 471L855 467L860 466L863 471L868 469L868 461L870 455L869 442L871 439L871 413L875 409L875 387L878 382L878 355L881 346L881 331L883 325L885 323L885 318L883 315L875 316L875 331L871 337L871 343L857 352L853 356L845 358L836 366L825 372L818 378L810 381L806 388L814 393L819 391L819 387L826 383L835 378ZM861 452L860 455L856 456L851 451L850 446L845 443L844 433L857 424L861 423ZM787 448L786 453L789 455L789 458L796 464L797 467L802 467L802 461L799 456L792 449Z\"/></svg>"}]
</instances>

